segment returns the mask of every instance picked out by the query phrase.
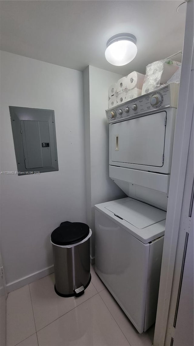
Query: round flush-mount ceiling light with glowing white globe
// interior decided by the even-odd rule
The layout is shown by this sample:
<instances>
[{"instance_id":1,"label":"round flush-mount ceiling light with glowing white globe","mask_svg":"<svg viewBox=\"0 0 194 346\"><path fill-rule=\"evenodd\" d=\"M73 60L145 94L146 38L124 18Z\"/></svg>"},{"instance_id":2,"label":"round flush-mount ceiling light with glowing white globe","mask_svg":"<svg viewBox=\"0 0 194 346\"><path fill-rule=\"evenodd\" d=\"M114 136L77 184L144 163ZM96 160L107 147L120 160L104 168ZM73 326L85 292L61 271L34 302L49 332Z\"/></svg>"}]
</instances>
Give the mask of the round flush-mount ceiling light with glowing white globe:
<instances>
[{"instance_id":1,"label":"round flush-mount ceiling light with glowing white globe","mask_svg":"<svg viewBox=\"0 0 194 346\"><path fill-rule=\"evenodd\" d=\"M106 60L116 66L123 66L137 54L136 37L132 34L117 34L109 38L106 44Z\"/></svg>"}]
</instances>

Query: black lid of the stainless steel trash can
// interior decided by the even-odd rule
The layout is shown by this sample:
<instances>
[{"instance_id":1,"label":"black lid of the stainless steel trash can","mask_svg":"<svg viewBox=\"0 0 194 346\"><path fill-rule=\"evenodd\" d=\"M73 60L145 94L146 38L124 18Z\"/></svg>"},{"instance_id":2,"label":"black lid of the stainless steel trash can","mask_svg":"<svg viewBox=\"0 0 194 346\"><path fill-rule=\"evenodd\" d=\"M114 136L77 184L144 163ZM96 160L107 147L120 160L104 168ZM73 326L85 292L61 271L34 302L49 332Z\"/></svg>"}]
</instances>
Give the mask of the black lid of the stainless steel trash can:
<instances>
[{"instance_id":1,"label":"black lid of the stainless steel trash can","mask_svg":"<svg viewBox=\"0 0 194 346\"><path fill-rule=\"evenodd\" d=\"M51 233L51 242L56 245L72 245L81 242L89 234L89 226L82 222L62 222Z\"/></svg>"}]
</instances>

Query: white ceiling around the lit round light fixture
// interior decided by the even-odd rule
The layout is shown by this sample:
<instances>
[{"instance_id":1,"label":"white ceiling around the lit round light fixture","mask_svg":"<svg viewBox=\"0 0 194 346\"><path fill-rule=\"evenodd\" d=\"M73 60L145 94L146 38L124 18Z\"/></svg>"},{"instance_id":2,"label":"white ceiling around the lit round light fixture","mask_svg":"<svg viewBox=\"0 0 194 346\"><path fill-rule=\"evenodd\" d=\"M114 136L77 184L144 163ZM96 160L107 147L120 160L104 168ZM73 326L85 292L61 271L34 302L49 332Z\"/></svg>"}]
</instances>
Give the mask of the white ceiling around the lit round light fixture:
<instances>
[{"instance_id":1,"label":"white ceiling around the lit round light fixture","mask_svg":"<svg viewBox=\"0 0 194 346\"><path fill-rule=\"evenodd\" d=\"M176 0L0 1L3 51L83 71L92 65L127 75L183 47L185 15ZM137 55L125 66L105 59L107 40L137 38ZM180 57L175 60L180 61Z\"/></svg>"}]
</instances>

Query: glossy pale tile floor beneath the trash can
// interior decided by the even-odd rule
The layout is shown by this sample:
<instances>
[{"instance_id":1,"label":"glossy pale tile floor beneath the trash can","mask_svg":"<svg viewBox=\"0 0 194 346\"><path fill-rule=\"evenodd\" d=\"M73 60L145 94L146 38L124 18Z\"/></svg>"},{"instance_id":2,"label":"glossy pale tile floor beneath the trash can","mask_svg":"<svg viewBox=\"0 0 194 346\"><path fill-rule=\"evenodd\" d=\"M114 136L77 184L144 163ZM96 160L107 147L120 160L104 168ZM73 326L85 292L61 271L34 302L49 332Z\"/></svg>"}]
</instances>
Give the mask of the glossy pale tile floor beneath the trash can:
<instances>
[{"instance_id":1,"label":"glossy pale tile floor beneath the trash can","mask_svg":"<svg viewBox=\"0 0 194 346\"><path fill-rule=\"evenodd\" d=\"M7 346L151 346L154 327L139 334L91 267L78 298L54 291L54 274L8 294Z\"/></svg>"}]
</instances>

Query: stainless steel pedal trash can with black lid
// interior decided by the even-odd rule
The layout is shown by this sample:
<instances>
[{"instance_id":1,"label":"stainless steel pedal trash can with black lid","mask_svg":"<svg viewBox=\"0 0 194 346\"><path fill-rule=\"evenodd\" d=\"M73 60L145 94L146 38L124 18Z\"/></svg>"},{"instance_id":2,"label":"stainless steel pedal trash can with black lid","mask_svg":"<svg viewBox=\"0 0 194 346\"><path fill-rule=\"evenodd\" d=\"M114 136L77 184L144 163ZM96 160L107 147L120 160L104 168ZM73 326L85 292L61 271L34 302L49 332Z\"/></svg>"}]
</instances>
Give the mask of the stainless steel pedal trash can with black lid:
<instances>
[{"instance_id":1,"label":"stainless steel pedal trash can with black lid","mask_svg":"<svg viewBox=\"0 0 194 346\"><path fill-rule=\"evenodd\" d=\"M62 222L51 234L54 253L55 292L61 297L84 293L91 281L90 236L82 222Z\"/></svg>"}]
</instances>

